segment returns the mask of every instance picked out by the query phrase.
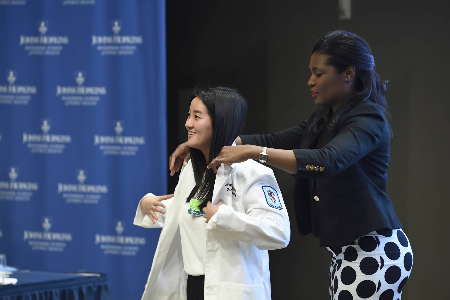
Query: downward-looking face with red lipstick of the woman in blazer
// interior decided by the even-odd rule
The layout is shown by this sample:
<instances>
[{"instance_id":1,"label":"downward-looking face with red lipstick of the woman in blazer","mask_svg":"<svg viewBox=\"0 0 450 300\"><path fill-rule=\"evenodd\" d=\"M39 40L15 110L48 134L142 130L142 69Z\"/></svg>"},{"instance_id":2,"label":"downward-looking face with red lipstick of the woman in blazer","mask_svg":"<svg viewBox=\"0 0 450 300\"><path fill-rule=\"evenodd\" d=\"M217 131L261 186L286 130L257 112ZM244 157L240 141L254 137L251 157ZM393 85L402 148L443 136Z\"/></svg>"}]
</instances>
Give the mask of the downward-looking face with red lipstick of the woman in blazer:
<instances>
[{"instance_id":1,"label":"downward-looking face with red lipstick of the woman in blazer","mask_svg":"<svg viewBox=\"0 0 450 300\"><path fill-rule=\"evenodd\" d=\"M333 105L347 98L351 85L346 89L345 71L337 72L335 67L326 64L323 55L317 53L311 55L309 68L308 86L316 105Z\"/></svg>"}]
</instances>

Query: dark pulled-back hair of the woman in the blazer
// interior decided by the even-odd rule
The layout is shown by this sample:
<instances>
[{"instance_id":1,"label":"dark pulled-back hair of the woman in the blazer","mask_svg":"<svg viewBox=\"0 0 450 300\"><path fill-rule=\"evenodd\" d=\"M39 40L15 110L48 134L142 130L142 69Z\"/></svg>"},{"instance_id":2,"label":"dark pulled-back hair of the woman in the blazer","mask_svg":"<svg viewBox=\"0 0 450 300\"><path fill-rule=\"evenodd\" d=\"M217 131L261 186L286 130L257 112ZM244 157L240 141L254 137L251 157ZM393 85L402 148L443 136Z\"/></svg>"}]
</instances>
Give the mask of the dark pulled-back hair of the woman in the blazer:
<instances>
[{"instance_id":1,"label":"dark pulled-back hair of the woman in the blazer","mask_svg":"<svg viewBox=\"0 0 450 300\"><path fill-rule=\"evenodd\" d=\"M375 72L375 59L369 44L360 36L348 31L330 31L320 39L312 49L312 53L323 55L325 62L342 72L349 66L356 68L355 90L342 103L341 107L331 116L330 107L319 108L310 125L310 130L317 131L322 124L330 129L342 114L348 112L364 101L371 101L383 107L384 115L389 124L392 136L392 117L387 110L386 94L387 81L381 81Z\"/></svg>"}]
</instances>

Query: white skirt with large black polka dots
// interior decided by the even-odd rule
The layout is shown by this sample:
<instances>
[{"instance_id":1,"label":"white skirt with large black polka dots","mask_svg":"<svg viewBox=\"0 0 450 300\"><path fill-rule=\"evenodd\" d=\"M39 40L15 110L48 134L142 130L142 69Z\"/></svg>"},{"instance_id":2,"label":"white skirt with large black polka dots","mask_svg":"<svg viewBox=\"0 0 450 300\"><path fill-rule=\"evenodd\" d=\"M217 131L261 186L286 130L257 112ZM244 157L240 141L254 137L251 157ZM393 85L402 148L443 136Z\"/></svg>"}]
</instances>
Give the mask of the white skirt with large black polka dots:
<instances>
[{"instance_id":1,"label":"white skirt with large black polka dots","mask_svg":"<svg viewBox=\"0 0 450 300\"><path fill-rule=\"evenodd\" d=\"M329 248L330 300L400 300L413 251L401 229L377 230L354 245Z\"/></svg>"}]
</instances>

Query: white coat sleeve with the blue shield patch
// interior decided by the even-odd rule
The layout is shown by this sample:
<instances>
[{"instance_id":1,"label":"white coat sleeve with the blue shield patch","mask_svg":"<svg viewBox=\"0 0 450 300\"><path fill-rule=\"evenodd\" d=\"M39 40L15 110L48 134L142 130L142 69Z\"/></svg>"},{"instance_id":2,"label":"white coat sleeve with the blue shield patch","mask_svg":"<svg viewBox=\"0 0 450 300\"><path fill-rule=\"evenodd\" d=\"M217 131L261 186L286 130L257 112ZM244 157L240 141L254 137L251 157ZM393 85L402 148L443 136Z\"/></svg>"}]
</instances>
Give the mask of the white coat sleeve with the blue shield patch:
<instances>
[{"instance_id":1,"label":"white coat sleeve with the blue shield patch","mask_svg":"<svg viewBox=\"0 0 450 300\"><path fill-rule=\"evenodd\" d=\"M250 182L243 189L245 213L222 204L209 220L206 229L232 240L246 242L258 249L274 250L288 246L291 237L289 216L284 206L273 171L263 167L253 173ZM269 196L263 187L272 189L279 208L271 206Z\"/></svg>"}]
</instances>

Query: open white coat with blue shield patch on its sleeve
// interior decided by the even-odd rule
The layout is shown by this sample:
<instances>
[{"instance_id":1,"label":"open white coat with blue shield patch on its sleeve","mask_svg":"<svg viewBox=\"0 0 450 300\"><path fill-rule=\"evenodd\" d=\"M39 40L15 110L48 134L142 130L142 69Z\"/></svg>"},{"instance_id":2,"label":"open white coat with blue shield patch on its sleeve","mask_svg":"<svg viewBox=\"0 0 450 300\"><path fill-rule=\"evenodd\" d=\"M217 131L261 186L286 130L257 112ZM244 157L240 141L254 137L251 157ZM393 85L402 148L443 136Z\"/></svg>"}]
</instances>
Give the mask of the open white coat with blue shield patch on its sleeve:
<instances>
[{"instance_id":1,"label":"open white coat with blue shield patch on its sleeve","mask_svg":"<svg viewBox=\"0 0 450 300\"><path fill-rule=\"evenodd\" d=\"M157 213L155 225L139 201L133 223L145 228L162 227L142 300L186 299L188 275L183 270L179 215L194 186L189 161L180 172L174 197L162 201L165 214ZM212 204L220 199L224 204L206 224L204 299L271 299L267 250L286 247L291 235L288 212L273 171L251 159L221 165L212 199Z\"/></svg>"}]
</instances>

